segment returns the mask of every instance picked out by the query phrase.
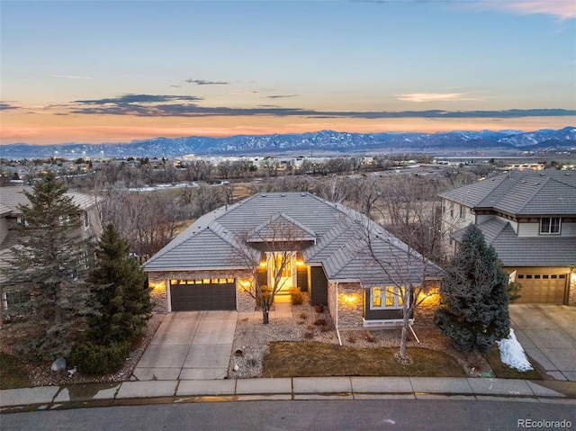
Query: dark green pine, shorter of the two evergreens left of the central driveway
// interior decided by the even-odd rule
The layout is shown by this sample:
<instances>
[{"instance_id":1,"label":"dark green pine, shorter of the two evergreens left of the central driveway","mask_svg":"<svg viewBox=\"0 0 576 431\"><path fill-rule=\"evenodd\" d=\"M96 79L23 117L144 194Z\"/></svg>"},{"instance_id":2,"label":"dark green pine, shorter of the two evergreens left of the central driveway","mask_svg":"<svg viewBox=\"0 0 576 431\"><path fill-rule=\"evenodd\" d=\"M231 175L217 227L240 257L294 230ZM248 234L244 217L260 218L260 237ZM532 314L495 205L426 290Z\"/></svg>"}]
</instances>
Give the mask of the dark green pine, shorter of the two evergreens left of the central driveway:
<instances>
[{"instance_id":1,"label":"dark green pine, shorter of the two evergreens left of the central driveway","mask_svg":"<svg viewBox=\"0 0 576 431\"><path fill-rule=\"evenodd\" d=\"M132 341L151 316L146 275L112 224L103 230L95 254L89 283L99 312L89 320L88 336L99 345Z\"/></svg>"}]
</instances>

